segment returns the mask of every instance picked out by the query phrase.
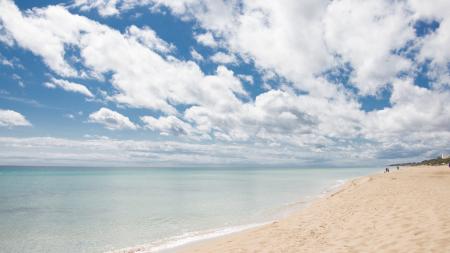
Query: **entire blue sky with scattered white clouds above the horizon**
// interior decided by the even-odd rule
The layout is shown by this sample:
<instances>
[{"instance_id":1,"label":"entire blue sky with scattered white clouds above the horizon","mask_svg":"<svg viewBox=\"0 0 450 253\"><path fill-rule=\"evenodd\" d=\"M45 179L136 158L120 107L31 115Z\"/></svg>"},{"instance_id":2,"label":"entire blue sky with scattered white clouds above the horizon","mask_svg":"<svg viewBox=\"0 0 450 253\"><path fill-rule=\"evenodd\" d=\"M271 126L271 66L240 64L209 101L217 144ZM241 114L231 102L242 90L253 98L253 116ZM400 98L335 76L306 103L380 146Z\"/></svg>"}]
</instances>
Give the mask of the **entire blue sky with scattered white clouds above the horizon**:
<instances>
[{"instance_id":1,"label":"entire blue sky with scattered white clouds above the horizon","mask_svg":"<svg viewBox=\"0 0 450 253\"><path fill-rule=\"evenodd\" d=\"M0 164L450 153L450 1L0 0Z\"/></svg>"}]
</instances>

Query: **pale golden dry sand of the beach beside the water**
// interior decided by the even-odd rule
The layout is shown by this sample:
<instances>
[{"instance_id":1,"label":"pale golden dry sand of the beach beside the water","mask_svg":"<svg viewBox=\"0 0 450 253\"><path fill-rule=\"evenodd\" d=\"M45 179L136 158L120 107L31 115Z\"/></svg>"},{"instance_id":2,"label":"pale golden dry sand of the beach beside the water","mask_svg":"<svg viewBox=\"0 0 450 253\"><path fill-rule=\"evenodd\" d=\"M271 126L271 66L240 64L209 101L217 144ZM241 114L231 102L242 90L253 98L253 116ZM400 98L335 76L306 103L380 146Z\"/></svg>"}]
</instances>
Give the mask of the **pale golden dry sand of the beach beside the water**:
<instances>
[{"instance_id":1,"label":"pale golden dry sand of the beach beside the water","mask_svg":"<svg viewBox=\"0 0 450 253\"><path fill-rule=\"evenodd\" d=\"M269 225L180 252L450 252L450 168L359 178Z\"/></svg>"}]
</instances>

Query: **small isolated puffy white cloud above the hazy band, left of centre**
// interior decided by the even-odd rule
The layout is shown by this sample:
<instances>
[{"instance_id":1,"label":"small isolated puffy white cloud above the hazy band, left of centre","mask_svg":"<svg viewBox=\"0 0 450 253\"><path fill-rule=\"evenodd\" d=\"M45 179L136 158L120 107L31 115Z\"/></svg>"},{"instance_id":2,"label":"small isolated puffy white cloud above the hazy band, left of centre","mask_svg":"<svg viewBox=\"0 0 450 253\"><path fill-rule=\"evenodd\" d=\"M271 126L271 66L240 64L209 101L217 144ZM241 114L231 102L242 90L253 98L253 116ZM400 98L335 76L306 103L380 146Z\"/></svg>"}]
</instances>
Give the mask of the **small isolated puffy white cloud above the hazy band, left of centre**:
<instances>
[{"instance_id":1,"label":"small isolated puffy white cloud above the hazy band, left of centre","mask_svg":"<svg viewBox=\"0 0 450 253\"><path fill-rule=\"evenodd\" d=\"M118 112L102 107L89 115L89 122L104 125L109 130L138 129L130 119Z\"/></svg>"}]
</instances>

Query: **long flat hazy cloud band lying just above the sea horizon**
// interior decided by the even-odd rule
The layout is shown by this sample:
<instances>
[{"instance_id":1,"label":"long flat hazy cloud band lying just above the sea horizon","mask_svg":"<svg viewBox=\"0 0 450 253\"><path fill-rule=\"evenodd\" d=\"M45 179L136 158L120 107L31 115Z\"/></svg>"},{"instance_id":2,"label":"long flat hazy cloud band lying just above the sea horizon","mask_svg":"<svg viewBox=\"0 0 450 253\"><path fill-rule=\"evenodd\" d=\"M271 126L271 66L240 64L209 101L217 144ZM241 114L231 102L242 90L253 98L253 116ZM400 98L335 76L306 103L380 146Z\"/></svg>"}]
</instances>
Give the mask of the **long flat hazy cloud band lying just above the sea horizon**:
<instances>
[{"instance_id":1,"label":"long flat hazy cloud band lying just above the sea horizon","mask_svg":"<svg viewBox=\"0 0 450 253\"><path fill-rule=\"evenodd\" d=\"M337 153L327 154L321 165ZM33 137L0 137L0 159L4 164L20 165L109 165L109 166L280 166L315 165L309 151L273 148L263 143L199 144L177 141L118 140L87 135L81 140ZM333 162L335 162L334 160ZM351 160L340 160L352 164Z\"/></svg>"}]
</instances>

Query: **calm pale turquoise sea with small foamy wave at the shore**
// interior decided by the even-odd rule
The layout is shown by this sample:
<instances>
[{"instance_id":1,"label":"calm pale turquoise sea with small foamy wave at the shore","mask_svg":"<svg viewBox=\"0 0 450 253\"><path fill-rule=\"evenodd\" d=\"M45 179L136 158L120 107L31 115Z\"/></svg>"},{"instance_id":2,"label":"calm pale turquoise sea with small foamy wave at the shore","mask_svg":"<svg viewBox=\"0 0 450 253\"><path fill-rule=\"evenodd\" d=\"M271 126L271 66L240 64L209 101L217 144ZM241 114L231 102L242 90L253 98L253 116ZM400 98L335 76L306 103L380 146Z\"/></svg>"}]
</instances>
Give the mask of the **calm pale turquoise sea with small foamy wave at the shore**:
<instances>
[{"instance_id":1,"label":"calm pale turquoise sea with small foamy wave at the shore","mask_svg":"<svg viewBox=\"0 0 450 253\"><path fill-rule=\"evenodd\" d=\"M2 252L149 252L269 221L374 169L0 168Z\"/></svg>"}]
</instances>

